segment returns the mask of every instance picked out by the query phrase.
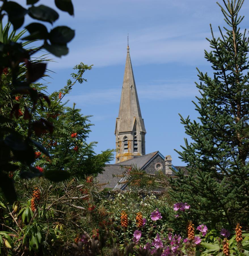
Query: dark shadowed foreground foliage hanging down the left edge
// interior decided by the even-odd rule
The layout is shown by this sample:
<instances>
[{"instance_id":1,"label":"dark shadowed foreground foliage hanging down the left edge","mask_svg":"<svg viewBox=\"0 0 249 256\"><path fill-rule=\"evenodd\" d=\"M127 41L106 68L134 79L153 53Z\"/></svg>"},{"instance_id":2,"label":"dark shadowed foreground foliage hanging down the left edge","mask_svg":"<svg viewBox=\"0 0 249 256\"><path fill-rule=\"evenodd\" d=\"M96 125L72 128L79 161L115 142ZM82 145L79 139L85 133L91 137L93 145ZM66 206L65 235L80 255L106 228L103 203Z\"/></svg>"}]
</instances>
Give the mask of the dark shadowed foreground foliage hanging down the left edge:
<instances>
[{"instance_id":1,"label":"dark shadowed foreground foliage hanging down the left edge","mask_svg":"<svg viewBox=\"0 0 249 256\"><path fill-rule=\"evenodd\" d=\"M16 30L22 26L26 15L51 24L59 18L54 9L45 5L35 5L38 1L27 1L27 5L31 5L28 9L14 1L1 1L1 20L3 16L8 16L9 22ZM73 15L71 0L56 0L55 2L59 9ZM35 140L41 133L52 134L54 129L47 118L40 117L36 120L38 118L37 104L48 107L51 103L48 96L37 90L33 84L44 75L46 64L41 60L32 62L31 56L44 48L56 56L66 55L68 53L67 43L74 37L74 30L66 26L58 26L48 32L45 25L33 22L26 27L26 30L30 35L23 40L36 40L37 43L42 42L41 46L26 49L26 43L17 42L24 32L15 36L15 32L12 31L9 35L9 25L2 29L1 22L0 187L9 202L16 200L16 192L8 172L19 169L21 177L24 178L41 176L42 173L32 166L35 161L35 148L50 157L44 146ZM20 97L30 104L20 105L17 102ZM26 127L20 125L17 127L18 123L14 117L18 119L21 116L26 120ZM25 135L24 129L27 129ZM65 172L61 172L60 177L65 178L64 174Z\"/></svg>"}]
</instances>

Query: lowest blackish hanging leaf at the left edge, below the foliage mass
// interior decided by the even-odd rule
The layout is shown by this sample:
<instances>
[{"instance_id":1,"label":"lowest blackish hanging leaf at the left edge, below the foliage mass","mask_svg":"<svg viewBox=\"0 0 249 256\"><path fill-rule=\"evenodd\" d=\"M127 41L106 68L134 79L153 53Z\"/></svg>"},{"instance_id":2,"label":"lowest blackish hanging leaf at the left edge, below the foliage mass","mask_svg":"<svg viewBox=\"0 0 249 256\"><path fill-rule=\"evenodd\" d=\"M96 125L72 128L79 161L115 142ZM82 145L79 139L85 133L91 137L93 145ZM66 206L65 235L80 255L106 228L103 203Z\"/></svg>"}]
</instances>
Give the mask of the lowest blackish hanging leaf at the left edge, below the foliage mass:
<instances>
[{"instance_id":1,"label":"lowest blackish hanging leaf at the left edge, below the foliage mass","mask_svg":"<svg viewBox=\"0 0 249 256\"><path fill-rule=\"evenodd\" d=\"M17 195L14 187L14 181L7 174L0 172L0 187L9 203L14 203L17 200Z\"/></svg>"}]
</instances>

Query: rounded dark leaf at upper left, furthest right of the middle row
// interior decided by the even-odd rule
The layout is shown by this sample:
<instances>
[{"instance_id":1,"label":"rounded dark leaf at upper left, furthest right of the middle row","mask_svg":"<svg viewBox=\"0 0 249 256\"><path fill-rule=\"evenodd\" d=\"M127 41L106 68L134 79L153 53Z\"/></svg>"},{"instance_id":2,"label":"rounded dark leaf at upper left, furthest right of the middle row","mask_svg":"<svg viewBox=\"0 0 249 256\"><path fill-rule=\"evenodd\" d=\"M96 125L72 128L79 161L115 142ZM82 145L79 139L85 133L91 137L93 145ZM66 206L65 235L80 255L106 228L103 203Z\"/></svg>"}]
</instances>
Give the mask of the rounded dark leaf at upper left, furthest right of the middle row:
<instances>
[{"instance_id":1,"label":"rounded dark leaf at upper left, furthest right of the middle row","mask_svg":"<svg viewBox=\"0 0 249 256\"><path fill-rule=\"evenodd\" d=\"M67 44L74 38L74 30L67 26L58 26L49 33L51 44Z\"/></svg>"}]
</instances>

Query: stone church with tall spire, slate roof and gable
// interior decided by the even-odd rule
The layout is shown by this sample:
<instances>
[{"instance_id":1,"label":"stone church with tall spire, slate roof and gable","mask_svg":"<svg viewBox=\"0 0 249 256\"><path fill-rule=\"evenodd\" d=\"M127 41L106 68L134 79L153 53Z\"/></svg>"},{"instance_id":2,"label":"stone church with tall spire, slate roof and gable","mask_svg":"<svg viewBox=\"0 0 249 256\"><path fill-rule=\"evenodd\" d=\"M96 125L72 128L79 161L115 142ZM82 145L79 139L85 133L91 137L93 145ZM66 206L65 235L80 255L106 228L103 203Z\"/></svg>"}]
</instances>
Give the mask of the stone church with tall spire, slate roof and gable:
<instances>
[{"instance_id":1,"label":"stone church with tall spire, slate roof and gable","mask_svg":"<svg viewBox=\"0 0 249 256\"><path fill-rule=\"evenodd\" d=\"M100 183L107 183L103 188L126 189L127 184L118 184L124 172L122 166L135 165L145 172L153 174L163 170L165 174L172 175L172 169L178 171L184 166L172 165L171 156L164 157L159 151L145 153L145 125L142 118L138 93L130 60L130 48L127 46L127 56L124 69L124 79L121 91L119 115L116 118L116 161L115 164L107 164L105 171L97 176ZM123 179L122 179L123 181Z\"/></svg>"}]
</instances>

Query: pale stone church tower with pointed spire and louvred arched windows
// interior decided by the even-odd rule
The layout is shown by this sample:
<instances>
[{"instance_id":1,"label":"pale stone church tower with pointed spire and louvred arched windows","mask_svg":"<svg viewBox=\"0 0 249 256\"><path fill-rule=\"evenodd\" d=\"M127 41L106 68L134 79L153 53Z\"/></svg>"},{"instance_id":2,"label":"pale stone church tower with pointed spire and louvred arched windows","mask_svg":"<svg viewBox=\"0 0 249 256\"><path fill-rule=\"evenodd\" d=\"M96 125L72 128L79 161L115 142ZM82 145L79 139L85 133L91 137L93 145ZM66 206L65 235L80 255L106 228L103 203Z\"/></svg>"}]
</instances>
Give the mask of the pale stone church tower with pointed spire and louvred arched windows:
<instances>
[{"instance_id":1,"label":"pale stone church tower with pointed spire and louvred arched windows","mask_svg":"<svg viewBox=\"0 0 249 256\"><path fill-rule=\"evenodd\" d=\"M145 134L128 45L119 117L115 127L116 163L145 155Z\"/></svg>"}]
</instances>

